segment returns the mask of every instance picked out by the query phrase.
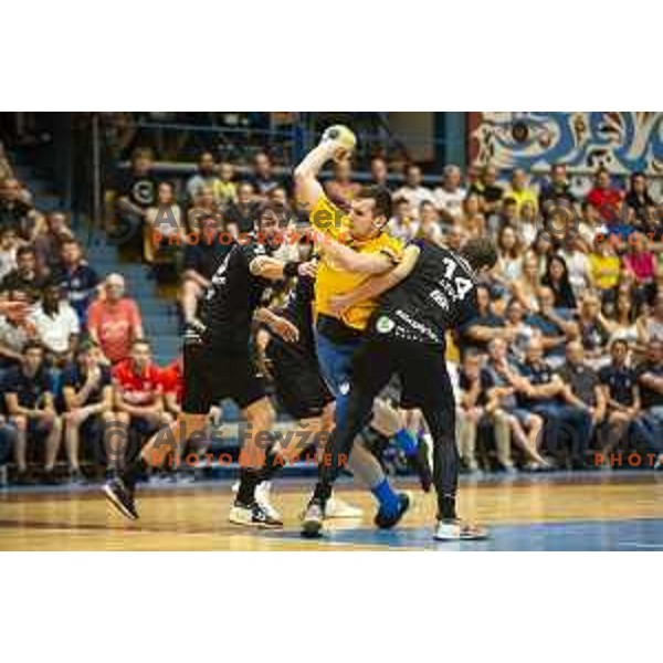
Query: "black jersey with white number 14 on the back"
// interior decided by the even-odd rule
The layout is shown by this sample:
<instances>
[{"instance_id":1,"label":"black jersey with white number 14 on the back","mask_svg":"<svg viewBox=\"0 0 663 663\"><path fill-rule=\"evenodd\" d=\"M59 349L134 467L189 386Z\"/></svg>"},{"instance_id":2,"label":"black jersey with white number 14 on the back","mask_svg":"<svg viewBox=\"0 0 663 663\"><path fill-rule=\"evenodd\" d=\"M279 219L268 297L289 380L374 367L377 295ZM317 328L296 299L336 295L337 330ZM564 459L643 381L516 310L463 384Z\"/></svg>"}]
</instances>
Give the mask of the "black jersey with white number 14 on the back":
<instances>
[{"instance_id":1,"label":"black jersey with white number 14 on the back","mask_svg":"<svg viewBox=\"0 0 663 663\"><path fill-rule=\"evenodd\" d=\"M380 298L370 330L379 338L444 345L444 333L476 313L476 278L462 256L427 240L414 269Z\"/></svg>"}]
</instances>

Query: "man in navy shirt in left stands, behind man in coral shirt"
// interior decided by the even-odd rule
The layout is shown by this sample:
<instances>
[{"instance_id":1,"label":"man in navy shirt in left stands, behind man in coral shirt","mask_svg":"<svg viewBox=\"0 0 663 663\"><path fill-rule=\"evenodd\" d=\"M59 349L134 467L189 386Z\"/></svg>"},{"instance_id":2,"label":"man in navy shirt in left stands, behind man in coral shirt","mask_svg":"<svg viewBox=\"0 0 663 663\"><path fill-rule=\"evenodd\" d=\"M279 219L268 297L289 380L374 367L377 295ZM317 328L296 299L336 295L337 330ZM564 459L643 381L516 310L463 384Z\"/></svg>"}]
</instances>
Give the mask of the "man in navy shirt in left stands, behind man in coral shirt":
<instances>
[{"instance_id":1,"label":"man in navy shirt in left stands, behind man in coral shirt","mask_svg":"<svg viewBox=\"0 0 663 663\"><path fill-rule=\"evenodd\" d=\"M62 267L54 274L53 281L66 294L83 327L87 322L87 309L98 292L99 277L96 270L83 257L78 240L73 238L64 240L60 255Z\"/></svg>"}]
</instances>

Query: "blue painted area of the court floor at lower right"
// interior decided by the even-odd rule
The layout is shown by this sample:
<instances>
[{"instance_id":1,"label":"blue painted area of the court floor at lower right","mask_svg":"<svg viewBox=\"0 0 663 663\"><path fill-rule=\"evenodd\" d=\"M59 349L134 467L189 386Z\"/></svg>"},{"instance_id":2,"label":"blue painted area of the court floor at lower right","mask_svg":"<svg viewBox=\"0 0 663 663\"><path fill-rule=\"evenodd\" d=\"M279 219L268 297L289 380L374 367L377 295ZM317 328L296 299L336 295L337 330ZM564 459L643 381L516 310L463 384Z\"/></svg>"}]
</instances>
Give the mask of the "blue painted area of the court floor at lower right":
<instances>
[{"instance_id":1,"label":"blue painted area of the court floor at lower right","mask_svg":"<svg viewBox=\"0 0 663 663\"><path fill-rule=\"evenodd\" d=\"M432 524L431 524L432 525ZM567 520L524 525L495 525L491 538L483 541L434 541L431 527L397 528L382 532L373 528L333 529L318 545L385 546L385 548L423 548L427 550L663 550L663 519ZM269 533L276 538L296 538L298 533Z\"/></svg>"}]
</instances>

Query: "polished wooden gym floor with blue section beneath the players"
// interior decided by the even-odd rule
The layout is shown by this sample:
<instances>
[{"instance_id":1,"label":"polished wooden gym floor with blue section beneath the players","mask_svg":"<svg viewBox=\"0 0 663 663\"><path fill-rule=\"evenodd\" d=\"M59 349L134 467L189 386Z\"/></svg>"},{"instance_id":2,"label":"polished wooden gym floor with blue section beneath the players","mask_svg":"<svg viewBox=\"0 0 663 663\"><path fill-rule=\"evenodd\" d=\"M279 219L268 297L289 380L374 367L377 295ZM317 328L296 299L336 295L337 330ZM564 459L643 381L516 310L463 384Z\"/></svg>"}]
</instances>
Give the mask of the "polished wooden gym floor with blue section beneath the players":
<instances>
[{"instance_id":1,"label":"polished wooden gym floor with blue section beneath the players","mask_svg":"<svg viewBox=\"0 0 663 663\"><path fill-rule=\"evenodd\" d=\"M401 484L402 485L402 484ZM124 520L99 486L0 490L0 550L663 550L663 473L610 472L463 480L463 516L491 528L483 543L435 544L434 498L414 484L415 504L391 532L372 526L371 496L351 483L338 494L361 520L335 520L326 538L298 536L312 482L275 482L282 532L228 523L230 484L145 487L140 519Z\"/></svg>"}]
</instances>

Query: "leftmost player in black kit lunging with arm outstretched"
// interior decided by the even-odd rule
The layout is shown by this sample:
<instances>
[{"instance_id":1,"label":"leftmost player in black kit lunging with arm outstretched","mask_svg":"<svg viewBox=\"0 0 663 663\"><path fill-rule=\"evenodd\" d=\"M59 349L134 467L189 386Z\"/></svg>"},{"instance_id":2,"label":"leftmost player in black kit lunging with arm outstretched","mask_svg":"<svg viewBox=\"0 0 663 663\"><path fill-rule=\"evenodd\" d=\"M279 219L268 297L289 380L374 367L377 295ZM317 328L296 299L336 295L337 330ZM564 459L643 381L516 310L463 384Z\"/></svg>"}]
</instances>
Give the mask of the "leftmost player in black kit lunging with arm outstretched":
<instances>
[{"instance_id":1,"label":"leftmost player in black kit lunging with arm outstretched","mask_svg":"<svg viewBox=\"0 0 663 663\"><path fill-rule=\"evenodd\" d=\"M152 436L136 461L104 487L108 499L125 516L138 517L134 502L137 477L147 466L160 464L173 445L203 434L210 407L230 398L241 408L250 434L240 454L240 488L230 520L262 527L282 525L254 496L273 456L264 448L264 440L272 429L274 411L250 355L251 326L257 319L276 336L295 341L297 327L263 307L263 295L272 282L313 275L315 269L311 263L283 262L272 256L273 248L281 245L280 225L280 210L262 206L256 211L254 233L238 238L212 275L199 317L185 332L182 414Z\"/></svg>"}]
</instances>

